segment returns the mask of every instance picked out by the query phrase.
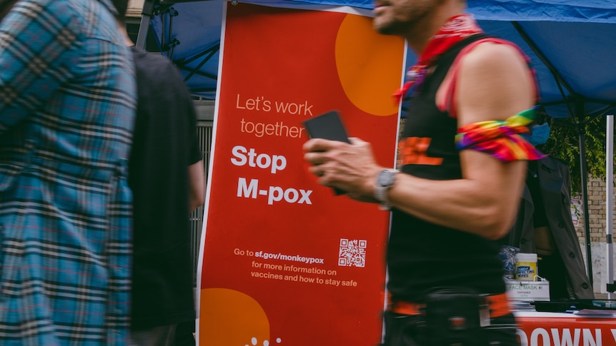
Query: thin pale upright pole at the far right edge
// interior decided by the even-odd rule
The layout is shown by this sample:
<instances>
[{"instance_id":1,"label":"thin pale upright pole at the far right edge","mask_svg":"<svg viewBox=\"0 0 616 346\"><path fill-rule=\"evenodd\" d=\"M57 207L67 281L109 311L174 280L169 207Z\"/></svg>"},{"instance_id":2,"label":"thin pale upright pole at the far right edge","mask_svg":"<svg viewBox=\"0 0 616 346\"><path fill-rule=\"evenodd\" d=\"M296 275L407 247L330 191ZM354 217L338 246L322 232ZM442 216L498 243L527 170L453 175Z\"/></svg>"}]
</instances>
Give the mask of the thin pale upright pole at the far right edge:
<instances>
[{"instance_id":1,"label":"thin pale upright pole at the far right edge","mask_svg":"<svg viewBox=\"0 0 616 346\"><path fill-rule=\"evenodd\" d=\"M607 297L614 299L614 244L612 234L614 227L614 116L605 118L605 235L607 245Z\"/></svg>"}]
</instances>

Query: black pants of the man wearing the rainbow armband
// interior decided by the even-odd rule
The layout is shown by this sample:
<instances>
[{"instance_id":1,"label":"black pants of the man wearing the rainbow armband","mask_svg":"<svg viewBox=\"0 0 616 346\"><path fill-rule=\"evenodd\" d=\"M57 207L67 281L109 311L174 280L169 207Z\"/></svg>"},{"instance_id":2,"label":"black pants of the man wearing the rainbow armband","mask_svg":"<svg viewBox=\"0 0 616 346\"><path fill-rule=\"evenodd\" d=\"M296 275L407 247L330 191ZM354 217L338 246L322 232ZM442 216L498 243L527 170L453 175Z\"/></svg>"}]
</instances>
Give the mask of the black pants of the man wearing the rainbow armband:
<instances>
[{"instance_id":1,"label":"black pants of the man wearing the rainbow armband","mask_svg":"<svg viewBox=\"0 0 616 346\"><path fill-rule=\"evenodd\" d=\"M472 337L457 342L438 342L439 332L443 331L430 330L422 315L387 311L383 346L520 346L513 315L492 318L490 326L481 327Z\"/></svg>"}]
</instances>

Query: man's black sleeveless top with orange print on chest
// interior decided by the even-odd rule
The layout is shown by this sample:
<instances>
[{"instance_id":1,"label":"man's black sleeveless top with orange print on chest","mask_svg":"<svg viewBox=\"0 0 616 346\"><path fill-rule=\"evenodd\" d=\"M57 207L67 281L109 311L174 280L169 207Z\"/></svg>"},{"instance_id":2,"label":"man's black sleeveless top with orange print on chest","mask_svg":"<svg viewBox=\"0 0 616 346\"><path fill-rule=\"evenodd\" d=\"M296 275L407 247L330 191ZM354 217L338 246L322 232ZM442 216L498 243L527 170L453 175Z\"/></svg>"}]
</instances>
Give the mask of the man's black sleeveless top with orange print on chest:
<instances>
[{"instance_id":1,"label":"man's black sleeveless top with orange print on chest","mask_svg":"<svg viewBox=\"0 0 616 346\"><path fill-rule=\"evenodd\" d=\"M468 44L487 36L470 36L438 60L409 106L399 159L402 172L431 180L462 178L454 136L457 120L436 106L435 96L454 58ZM477 235L428 223L392 210L387 250L387 288L397 300L417 302L429 288L458 286L478 292L505 292L500 245Z\"/></svg>"}]
</instances>

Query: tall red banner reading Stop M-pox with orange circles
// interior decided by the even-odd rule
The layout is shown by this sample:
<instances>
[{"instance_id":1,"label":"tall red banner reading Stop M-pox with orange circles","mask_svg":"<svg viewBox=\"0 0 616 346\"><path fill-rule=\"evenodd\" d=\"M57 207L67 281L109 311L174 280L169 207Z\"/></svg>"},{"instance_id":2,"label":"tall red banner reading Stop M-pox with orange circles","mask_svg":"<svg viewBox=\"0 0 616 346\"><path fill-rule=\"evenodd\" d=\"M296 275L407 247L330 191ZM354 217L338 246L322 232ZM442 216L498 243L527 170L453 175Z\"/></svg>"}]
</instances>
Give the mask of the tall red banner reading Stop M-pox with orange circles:
<instances>
[{"instance_id":1,"label":"tall red banner reading Stop M-pox with orange circles","mask_svg":"<svg viewBox=\"0 0 616 346\"><path fill-rule=\"evenodd\" d=\"M364 16L228 4L199 345L380 342L389 213L317 184L302 121L338 110L394 166L404 49Z\"/></svg>"}]
</instances>

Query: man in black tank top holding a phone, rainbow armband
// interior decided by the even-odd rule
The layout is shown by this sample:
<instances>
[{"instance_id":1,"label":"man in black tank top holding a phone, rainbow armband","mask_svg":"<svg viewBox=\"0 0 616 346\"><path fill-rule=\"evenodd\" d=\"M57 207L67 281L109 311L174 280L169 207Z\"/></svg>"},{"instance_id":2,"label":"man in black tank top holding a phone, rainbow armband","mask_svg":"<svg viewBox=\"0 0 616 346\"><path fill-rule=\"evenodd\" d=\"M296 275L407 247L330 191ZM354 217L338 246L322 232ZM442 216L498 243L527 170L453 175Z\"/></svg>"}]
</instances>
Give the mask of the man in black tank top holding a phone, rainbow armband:
<instances>
[{"instance_id":1,"label":"man in black tank top holding a phone, rainbow armband","mask_svg":"<svg viewBox=\"0 0 616 346\"><path fill-rule=\"evenodd\" d=\"M510 230L525 160L520 136L537 90L525 56L489 38L464 0L377 0L374 28L419 59L397 93L410 96L400 171L370 144L312 139L319 183L392 209L384 345L517 345L495 241Z\"/></svg>"}]
</instances>

